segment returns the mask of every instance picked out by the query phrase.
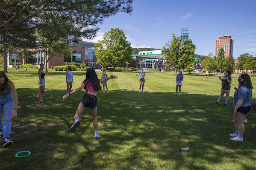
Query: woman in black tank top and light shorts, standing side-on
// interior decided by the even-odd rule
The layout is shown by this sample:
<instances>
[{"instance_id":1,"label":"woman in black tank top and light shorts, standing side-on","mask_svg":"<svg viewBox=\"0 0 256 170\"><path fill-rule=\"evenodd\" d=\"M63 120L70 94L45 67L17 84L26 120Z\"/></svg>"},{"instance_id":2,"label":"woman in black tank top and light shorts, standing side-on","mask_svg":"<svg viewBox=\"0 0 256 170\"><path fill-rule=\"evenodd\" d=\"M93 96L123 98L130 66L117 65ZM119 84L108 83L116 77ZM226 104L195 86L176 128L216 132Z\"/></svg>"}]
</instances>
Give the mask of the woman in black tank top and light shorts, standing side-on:
<instances>
[{"instance_id":1,"label":"woman in black tank top and light shorts, standing side-on","mask_svg":"<svg viewBox=\"0 0 256 170\"><path fill-rule=\"evenodd\" d=\"M44 103L44 64L40 64L40 69L37 72L39 76L38 86L39 86L39 92L38 92L38 101L39 103Z\"/></svg>"}]
</instances>

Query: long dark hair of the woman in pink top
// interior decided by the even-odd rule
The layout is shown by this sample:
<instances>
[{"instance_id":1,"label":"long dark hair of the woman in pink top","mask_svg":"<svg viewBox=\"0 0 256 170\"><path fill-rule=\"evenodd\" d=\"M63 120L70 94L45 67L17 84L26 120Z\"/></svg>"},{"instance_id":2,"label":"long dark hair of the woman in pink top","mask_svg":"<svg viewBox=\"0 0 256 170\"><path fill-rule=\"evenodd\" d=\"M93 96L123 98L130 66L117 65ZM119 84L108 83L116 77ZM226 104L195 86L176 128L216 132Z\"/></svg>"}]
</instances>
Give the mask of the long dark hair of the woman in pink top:
<instances>
[{"instance_id":1,"label":"long dark hair of the woman in pink top","mask_svg":"<svg viewBox=\"0 0 256 170\"><path fill-rule=\"evenodd\" d=\"M96 74L93 68L89 68L87 70L86 79L83 81L83 83L89 83L89 82L91 83L95 91L101 90L100 82L98 80L98 75ZM84 87L84 89L86 90L86 86Z\"/></svg>"}]
</instances>

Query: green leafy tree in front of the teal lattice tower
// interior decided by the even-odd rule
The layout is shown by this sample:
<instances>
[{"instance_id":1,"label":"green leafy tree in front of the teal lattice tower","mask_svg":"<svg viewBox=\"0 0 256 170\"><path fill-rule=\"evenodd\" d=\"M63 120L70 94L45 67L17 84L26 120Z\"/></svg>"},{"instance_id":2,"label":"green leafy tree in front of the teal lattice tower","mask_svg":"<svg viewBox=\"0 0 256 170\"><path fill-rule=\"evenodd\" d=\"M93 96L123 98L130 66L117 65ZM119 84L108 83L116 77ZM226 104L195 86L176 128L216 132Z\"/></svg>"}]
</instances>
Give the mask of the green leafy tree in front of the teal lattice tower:
<instances>
[{"instance_id":1,"label":"green leafy tree in front of the teal lattice tower","mask_svg":"<svg viewBox=\"0 0 256 170\"><path fill-rule=\"evenodd\" d=\"M183 68L194 61L196 46L192 44L192 40L184 41L182 36L176 37L174 34L168 43L163 46L165 60L168 66L175 67L175 74L177 74L177 68Z\"/></svg>"}]
</instances>

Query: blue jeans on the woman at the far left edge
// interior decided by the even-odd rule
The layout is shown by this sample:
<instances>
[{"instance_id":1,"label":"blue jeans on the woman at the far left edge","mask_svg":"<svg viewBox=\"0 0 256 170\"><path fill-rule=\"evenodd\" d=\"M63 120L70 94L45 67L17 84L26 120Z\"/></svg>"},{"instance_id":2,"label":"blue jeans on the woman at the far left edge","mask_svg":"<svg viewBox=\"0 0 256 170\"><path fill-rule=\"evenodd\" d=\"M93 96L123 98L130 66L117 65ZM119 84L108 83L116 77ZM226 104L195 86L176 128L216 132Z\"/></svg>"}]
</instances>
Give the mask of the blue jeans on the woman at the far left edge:
<instances>
[{"instance_id":1,"label":"blue jeans on the woman at the far left edge","mask_svg":"<svg viewBox=\"0 0 256 170\"><path fill-rule=\"evenodd\" d=\"M0 132L3 133L3 138L10 138L11 125L12 125L12 111L13 111L12 93L6 96L0 96ZM3 112L3 119L2 119L2 112Z\"/></svg>"}]
</instances>

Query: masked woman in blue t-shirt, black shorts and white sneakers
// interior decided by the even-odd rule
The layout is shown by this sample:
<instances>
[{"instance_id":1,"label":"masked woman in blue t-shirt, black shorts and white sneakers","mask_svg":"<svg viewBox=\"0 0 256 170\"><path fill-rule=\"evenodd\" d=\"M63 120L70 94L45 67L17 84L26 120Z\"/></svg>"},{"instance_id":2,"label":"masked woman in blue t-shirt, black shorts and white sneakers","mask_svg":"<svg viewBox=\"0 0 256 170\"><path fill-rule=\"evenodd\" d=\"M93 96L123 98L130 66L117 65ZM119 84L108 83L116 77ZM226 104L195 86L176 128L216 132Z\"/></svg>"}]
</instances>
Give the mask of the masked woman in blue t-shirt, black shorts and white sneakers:
<instances>
[{"instance_id":1,"label":"masked woman in blue t-shirt, black shorts and white sneakers","mask_svg":"<svg viewBox=\"0 0 256 170\"><path fill-rule=\"evenodd\" d=\"M252 98L252 83L250 76L247 74L242 74L238 77L238 82L241 84L239 89L234 93L234 114L233 120L235 125L235 133L230 134L233 141L243 141L244 135L244 116L247 112L250 111L251 103L250 99Z\"/></svg>"}]
</instances>

